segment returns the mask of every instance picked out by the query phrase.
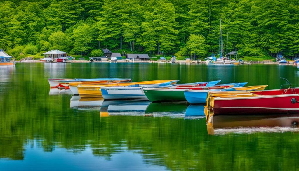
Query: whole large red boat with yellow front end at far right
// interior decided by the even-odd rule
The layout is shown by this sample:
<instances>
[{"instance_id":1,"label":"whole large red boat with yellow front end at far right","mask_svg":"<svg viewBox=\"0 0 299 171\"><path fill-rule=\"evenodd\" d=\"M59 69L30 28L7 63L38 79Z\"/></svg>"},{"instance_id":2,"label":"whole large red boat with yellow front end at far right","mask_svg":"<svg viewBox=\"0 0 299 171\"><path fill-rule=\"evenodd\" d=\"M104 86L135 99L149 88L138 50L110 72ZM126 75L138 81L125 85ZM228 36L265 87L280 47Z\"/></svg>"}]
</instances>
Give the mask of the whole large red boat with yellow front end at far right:
<instances>
[{"instance_id":1,"label":"whole large red boat with yellow front end at far right","mask_svg":"<svg viewBox=\"0 0 299 171\"><path fill-rule=\"evenodd\" d=\"M210 94L207 110L213 115L299 113L299 88Z\"/></svg>"}]
</instances>

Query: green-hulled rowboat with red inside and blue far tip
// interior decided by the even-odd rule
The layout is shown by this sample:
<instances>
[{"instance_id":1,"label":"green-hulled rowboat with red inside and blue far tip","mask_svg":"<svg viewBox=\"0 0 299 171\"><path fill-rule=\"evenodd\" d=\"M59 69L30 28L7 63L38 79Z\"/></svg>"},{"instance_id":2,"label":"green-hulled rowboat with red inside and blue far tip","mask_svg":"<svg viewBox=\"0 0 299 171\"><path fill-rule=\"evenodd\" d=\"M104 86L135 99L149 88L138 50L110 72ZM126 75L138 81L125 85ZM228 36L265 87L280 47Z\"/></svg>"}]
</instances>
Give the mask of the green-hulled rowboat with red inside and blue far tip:
<instances>
[{"instance_id":1,"label":"green-hulled rowboat with red inside and blue far tip","mask_svg":"<svg viewBox=\"0 0 299 171\"><path fill-rule=\"evenodd\" d=\"M216 85L217 89L219 88L228 88L234 86L243 86L247 83L231 83L223 84L223 86ZM214 87L214 86L210 86ZM187 101L184 95L184 90L208 90L210 87L201 87L201 86L179 86L176 89L166 89L166 88L143 88L145 96L151 102L161 102L161 101ZM206 96L207 97L207 96ZM206 99L206 98L205 98Z\"/></svg>"}]
</instances>

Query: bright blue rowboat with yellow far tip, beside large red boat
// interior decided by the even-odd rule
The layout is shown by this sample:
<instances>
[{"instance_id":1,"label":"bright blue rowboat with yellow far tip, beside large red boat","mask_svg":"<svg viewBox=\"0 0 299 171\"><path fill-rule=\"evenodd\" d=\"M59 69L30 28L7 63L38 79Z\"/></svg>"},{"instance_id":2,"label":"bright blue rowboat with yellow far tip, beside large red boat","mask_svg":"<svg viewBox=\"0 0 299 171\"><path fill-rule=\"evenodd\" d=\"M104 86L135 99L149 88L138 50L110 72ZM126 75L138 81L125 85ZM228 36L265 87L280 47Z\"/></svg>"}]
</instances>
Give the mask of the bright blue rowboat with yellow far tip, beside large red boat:
<instances>
[{"instance_id":1,"label":"bright blue rowboat with yellow far tip, beside large red boat","mask_svg":"<svg viewBox=\"0 0 299 171\"><path fill-rule=\"evenodd\" d=\"M247 87L234 87L234 88L225 88L218 89L217 91L257 91L264 90L268 85L261 86L247 86ZM184 90L184 96L187 102L191 104L202 104L207 102L208 91L211 89L205 90Z\"/></svg>"}]
</instances>

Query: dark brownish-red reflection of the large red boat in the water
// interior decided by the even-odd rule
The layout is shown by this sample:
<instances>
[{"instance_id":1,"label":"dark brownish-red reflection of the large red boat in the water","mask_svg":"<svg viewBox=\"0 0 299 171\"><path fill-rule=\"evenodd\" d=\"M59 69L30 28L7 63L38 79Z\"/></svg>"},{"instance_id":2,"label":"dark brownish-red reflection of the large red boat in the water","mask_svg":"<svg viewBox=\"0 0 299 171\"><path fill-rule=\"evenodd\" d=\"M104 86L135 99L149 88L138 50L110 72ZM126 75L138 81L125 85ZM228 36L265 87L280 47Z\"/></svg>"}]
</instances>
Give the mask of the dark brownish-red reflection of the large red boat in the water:
<instances>
[{"instance_id":1,"label":"dark brownish-red reflection of the large red boat in the water","mask_svg":"<svg viewBox=\"0 0 299 171\"><path fill-rule=\"evenodd\" d=\"M299 131L299 114L211 116L208 134Z\"/></svg>"}]
</instances>

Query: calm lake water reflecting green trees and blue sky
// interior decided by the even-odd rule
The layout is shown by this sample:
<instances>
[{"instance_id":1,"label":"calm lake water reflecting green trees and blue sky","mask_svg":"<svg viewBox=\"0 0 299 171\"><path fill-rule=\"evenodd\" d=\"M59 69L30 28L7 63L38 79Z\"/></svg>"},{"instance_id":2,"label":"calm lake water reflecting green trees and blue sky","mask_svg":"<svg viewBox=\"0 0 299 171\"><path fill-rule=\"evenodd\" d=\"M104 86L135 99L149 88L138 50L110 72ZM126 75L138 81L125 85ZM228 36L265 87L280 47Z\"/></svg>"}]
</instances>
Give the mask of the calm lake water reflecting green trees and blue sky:
<instances>
[{"instance_id":1,"label":"calm lake water reflecting green trees and blue sky","mask_svg":"<svg viewBox=\"0 0 299 171\"><path fill-rule=\"evenodd\" d=\"M50 90L47 78L222 80L277 89L294 66L17 63L0 68L0 170L296 170L299 116L214 118L203 105L103 101Z\"/></svg>"}]
</instances>

